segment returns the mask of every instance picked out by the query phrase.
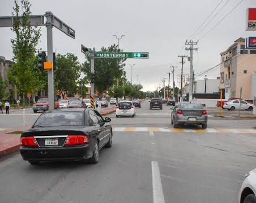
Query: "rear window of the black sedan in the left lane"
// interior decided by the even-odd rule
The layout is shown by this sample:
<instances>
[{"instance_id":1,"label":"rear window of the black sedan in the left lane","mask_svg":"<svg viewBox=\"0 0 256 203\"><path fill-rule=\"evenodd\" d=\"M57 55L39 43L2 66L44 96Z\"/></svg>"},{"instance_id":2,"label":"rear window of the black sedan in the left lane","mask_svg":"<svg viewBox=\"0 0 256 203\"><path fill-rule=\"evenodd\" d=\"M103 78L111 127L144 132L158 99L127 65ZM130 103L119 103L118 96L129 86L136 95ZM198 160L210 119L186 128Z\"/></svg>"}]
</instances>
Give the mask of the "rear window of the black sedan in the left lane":
<instances>
[{"instance_id":1,"label":"rear window of the black sedan in the left lane","mask_svg":"<svg viewBox=\"0 0 256 203\"><path fill-rule=\"evenodd\" d=\"M34 126L83 126L83 112L50 112L43 113Z\"/></svg>"}]
</instances>

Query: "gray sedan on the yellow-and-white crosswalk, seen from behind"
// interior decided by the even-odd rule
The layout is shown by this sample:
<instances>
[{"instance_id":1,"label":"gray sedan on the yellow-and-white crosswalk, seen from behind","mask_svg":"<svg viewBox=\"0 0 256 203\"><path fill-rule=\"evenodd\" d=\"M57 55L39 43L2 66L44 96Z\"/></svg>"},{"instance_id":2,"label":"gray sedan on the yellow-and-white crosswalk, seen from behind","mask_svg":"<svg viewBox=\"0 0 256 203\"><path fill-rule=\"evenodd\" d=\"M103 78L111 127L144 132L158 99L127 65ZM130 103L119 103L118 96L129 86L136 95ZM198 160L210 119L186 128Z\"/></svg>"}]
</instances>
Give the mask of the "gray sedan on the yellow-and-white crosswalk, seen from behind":
<instances>
[{"instance_id":1,"label":"gray sedan on the yellow-and-white crosswalk, seen from behind","mask_svg":"<svg viewBox=\"0 0 256 203\"><path fill-rule=\"evenodd\" d=\"M203 129L207 128L208 116L206 109L203 109L202 104L189 101L181 101L172 109L172 124L173 127L178 127L179 124L202 125Z\"/></svg>"}]
</instances>

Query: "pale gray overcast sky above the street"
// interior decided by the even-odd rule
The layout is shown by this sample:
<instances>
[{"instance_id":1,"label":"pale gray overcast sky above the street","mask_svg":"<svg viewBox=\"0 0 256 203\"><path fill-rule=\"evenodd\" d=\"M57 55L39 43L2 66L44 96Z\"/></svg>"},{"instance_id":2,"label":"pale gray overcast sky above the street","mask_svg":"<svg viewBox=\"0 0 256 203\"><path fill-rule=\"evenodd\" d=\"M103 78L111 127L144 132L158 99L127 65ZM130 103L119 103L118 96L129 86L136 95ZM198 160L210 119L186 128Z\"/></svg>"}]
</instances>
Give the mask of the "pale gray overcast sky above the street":
<instances>
[{"instance_id":1,"label":"pale gray overcast sky above the street","mask_svg":"<svg viewBox=\"0 0 256 203\"><path fill-rule=\"evenodd\" d=\"M73 52L81 63L84 55L80 45L108 47L117 43L113 35L125 35L120 41L124 51L150 52L150 59L127 59L126 72L131 80L129 64L133 68L133 82L142 83L144 90L156 90L162 78L167 78L170 65L178 65L176 74L181 72L177 55L186 53L184 43L188 37L207 19L221 0L31 0L32 15L52 11L54 15L75 29L75 39L54 29L53 50L60 54ZM214 16L227 3L216 17L193 38L197 41L214 27L241 0L223 0ZM0 16L10 16L14 1L1 0ZM256 7L255 0L244 0L216 28L198 43L199 51L194 52L194 70L214 67L220 63L220 52L226 50L239 37L256 36L256 32L245 31L245 12L248 7ZM211 16L211 17L212 17ZM210 17L210 19L211 19ZM10 28L0 28L0 55L12 58L10 39L14 37ZM200 29L199 29L200 30ZM46 28L42 27L42 37L38 48L46 50ZM184 73L189 73L186 61ZM207 77L219 76L219 68L207 73ZM202 76L204 77L204 76ZM166 82L165 84L167 84Z\"/></svg>"}]
</instances>

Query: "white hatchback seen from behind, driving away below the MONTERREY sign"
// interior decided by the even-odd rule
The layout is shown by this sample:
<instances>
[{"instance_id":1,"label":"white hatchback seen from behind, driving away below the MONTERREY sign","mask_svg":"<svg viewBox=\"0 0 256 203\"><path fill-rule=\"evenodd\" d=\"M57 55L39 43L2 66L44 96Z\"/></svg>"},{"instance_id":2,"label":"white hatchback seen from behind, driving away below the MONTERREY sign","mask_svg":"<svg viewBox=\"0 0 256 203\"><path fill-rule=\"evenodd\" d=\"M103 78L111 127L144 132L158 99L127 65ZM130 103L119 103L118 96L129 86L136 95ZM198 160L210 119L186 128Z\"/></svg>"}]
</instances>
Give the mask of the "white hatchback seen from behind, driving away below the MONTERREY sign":
<instances>
[{"instance_id":1,"label":"white hatchback seen from behind, driving away below the MONTERREY sign","mask_svg":"<svg viewBox=\"0 0 256 203\"><path fill-rule=\"evenodd\" d=\"M132 101L120 101L117 104L116 117L120 116L136 116L136 110Z\"/></svg>"}]
</instances>

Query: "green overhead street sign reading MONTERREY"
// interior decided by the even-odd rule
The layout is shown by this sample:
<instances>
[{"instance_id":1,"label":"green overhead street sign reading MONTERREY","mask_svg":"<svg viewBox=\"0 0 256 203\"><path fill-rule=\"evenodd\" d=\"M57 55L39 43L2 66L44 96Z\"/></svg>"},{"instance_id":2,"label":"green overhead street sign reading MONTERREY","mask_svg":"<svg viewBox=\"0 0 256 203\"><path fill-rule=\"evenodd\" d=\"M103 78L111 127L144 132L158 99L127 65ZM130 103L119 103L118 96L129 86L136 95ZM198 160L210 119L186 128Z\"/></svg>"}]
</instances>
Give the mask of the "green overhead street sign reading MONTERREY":
<instances>
[{"instance_id":1,"label":"green overhead street sign reading MONTERREY","mask_svg":"<svg viewBox=\"0 0 256 203\"><path fill-rule=\"evenodd\" d=\"M148 52L96 52L96 58L104 59L123 59L123 58L133 58L133 59L148 59Z\"/></svg>"}]
</instances>

